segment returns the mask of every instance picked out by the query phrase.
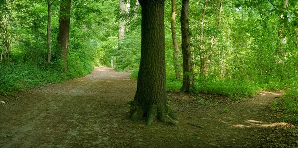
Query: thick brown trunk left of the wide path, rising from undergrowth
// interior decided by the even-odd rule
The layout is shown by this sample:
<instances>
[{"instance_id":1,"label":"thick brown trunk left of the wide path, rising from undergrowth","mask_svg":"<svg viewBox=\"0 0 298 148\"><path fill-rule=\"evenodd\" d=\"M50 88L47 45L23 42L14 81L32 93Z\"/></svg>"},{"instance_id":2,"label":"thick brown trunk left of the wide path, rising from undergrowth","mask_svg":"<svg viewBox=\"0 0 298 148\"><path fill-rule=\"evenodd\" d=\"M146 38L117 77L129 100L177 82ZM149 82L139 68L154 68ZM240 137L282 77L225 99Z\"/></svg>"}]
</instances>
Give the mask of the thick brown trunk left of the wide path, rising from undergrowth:
<instances>
[{"instance_id":1,"label":"thick brown trunk left of the wide path, rising from undergrowth","mask_svg":"<svg viewBox=\"0 0 298 148\"><path fill-rule=\"evenodd\" d=\"M59 32L57 43L60 45L61 59L64 70L67 71L67 54L68 42L70 35L70 14L71 14L71 0L61 0L60 3L60 18L59 18Z\"/></svg>"}]
</instances>

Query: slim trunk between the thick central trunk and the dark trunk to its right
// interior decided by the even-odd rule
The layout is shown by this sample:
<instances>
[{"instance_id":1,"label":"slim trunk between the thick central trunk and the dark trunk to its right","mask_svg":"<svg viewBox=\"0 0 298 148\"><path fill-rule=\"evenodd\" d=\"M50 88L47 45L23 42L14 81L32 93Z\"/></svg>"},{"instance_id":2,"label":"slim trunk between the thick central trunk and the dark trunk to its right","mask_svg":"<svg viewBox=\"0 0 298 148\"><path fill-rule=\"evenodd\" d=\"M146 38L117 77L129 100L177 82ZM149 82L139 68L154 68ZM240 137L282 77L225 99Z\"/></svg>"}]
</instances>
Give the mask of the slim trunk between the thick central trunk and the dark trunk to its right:
<instances>
[{"instance_id":1,"label":"slim trunk between the thick central trunk and the dark trunk to its right","mask_svg":"<svg viewBox=\"0 0 298 148\"><path fill-rule=\"evenodd\" d=\"M176 20L176 6L175 6L175 0L172 0L171 30L172 30L172 39L173 39L173 45L174 45L173 58L174 58L176 79L179 79L181 76L181 72L179 70L179 61L178 61L179 46L178 46L177 36L176 36L175 20Z\"/></svg>"}]
</instances>

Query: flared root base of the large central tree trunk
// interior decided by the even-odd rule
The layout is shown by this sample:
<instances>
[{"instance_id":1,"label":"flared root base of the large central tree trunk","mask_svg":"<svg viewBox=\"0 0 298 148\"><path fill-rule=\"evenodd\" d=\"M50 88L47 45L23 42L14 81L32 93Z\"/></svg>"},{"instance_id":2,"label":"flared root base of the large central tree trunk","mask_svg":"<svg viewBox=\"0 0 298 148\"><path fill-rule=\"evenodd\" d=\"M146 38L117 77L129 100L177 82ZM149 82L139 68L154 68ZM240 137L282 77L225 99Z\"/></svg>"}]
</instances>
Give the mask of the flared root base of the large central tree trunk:
<instances>
[{"instance_id":1,"label":"flared root base of the large central tree trunk","mask_svg":"<svg viewBox=\"0 0 298 148\"><path fill-rule=\"evenodd\" d=\"M169 106L150 105L150 107L145 110L145 108L140 107L141 105L138 105L135 101L132 101L130 105L129 118L133 121L146 117L146 124L151 125L156 119L163 123L179 120L176 113Z\"/></svg>"}]
</instances>

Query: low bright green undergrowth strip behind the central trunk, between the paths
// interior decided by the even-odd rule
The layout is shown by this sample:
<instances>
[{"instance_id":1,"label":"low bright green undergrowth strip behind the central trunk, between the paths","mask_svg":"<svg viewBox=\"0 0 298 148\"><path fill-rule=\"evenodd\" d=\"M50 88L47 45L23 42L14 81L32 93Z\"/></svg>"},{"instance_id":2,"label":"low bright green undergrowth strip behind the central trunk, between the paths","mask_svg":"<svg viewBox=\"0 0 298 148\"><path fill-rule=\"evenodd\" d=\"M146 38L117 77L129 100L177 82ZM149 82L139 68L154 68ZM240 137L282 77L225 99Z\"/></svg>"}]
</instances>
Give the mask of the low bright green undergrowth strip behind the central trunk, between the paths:
<instances>
[{"instance_id":1,"label":"low bright green undergrowth strip behind the central trunk, between the paths","mask_svg":"<svg viewBox=\"0 0 298 148\"><path fill-rule=\"evenodd\" d=\"M138 70L134 70L131 78L138 77ZM167 75L166 89L167 91L181 89L183 79L176 79L175 75ZM203 93L210 95L219 95L231 99L240 99L245 97L253 97L257 92L262 90L260 85L248 80L236 79L217 79L217 78L197 78L195 79L194 93Z\"/></svg>"}]
</instances>

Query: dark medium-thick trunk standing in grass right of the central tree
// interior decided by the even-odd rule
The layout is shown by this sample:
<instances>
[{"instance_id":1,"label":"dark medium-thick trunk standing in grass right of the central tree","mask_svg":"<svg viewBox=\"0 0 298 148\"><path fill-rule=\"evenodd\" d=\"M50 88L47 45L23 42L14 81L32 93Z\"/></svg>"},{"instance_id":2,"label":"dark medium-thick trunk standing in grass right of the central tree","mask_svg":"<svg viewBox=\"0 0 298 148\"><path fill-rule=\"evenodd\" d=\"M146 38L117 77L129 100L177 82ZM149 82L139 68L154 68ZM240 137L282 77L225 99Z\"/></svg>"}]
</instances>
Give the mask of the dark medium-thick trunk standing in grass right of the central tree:
<instances>
[{"instance_id":1,"label":"dark medium-thick trunk standing in grass right of the central tree","mask_svg":"<svg viewBox=\"0 0 298 148\"><path fill-rule=\"evenodd\" d=\"M190 53L190 37L188 22L189 0L182 0L181 10L181 34L182 34L182 55L183 55L183 85L181 92L191 92L194 87L194 77L192 69L192 58Z\"/></svg>"}]
</instances>

